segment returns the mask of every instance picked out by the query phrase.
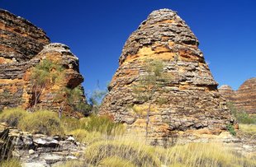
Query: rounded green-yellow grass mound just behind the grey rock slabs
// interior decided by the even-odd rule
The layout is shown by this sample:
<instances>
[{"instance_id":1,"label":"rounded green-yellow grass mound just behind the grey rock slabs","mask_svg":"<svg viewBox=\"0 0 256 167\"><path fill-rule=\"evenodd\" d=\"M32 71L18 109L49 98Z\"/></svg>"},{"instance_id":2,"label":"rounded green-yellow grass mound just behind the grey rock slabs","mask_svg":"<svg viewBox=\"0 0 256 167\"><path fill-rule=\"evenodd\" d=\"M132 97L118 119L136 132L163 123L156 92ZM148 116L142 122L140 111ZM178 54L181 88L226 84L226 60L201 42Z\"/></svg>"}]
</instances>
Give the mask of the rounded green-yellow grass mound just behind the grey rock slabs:
<instances>
[{"instance_id":1,"label":"rounded green-yellow grass mound just behind the grey rock slabs","mask_svg":"<svg viewBox=\"0 0 256 167\"><path fill-rule=\"evenodd\" d=\"M18 128L21 128L23 131L45 135L63 134L58 115L47 110L28 114L18 123Z\"/></svg>"}]
</instances>

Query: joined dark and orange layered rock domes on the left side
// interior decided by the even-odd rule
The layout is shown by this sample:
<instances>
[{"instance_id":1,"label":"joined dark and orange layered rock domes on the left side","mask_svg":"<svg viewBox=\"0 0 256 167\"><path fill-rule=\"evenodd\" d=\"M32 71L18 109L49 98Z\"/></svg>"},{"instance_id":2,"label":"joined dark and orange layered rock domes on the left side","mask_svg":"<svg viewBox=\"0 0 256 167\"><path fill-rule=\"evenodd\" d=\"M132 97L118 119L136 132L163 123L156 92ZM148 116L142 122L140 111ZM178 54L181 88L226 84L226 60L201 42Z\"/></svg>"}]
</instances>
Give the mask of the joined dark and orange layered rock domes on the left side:
<instances>
[{"instance_id":1,"label":"joined dark and orange layered rock domes on the left side","mask_svg":"<svg viewBox=\"0 0 256 167\"><path fill-rule=\"evenodd\" d=\"M45 58L64 67L64 81L45 87L38 103L41 109L57 110L61 101L56 100L56 92L63 87L73 89L83 82L78 58L69 47L50 44L45 32L31 22L1 9L0 32L0 109L31 107L31 68ZM83 99L85 102L84 95Z\"/></svg>"}]
</instances>

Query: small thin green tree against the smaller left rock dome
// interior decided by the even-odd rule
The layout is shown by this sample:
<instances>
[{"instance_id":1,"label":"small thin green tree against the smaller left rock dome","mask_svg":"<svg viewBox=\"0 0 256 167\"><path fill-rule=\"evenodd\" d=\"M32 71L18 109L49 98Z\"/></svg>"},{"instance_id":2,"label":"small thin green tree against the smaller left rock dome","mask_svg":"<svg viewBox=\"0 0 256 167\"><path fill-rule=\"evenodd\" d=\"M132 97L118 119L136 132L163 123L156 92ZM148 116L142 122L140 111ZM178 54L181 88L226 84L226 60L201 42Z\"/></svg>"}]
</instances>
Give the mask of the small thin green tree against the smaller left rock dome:
<instances>
[{"instance_id":1,"label":"small thin green tree against the smaller left rock dome","mask_svg":"<svg viewBox=\"0 0 256 167\"><path fill-rule=\"evenodd\" d=\"M58 63L54 63L49 59L42 60L36 67L31 70L32 83L32 101L31 105L36 108L36 104L40 99L45 86L47 84L55 84L55 82L62 78L61 72L63 67Z\"/></svg>"}]
</instances>

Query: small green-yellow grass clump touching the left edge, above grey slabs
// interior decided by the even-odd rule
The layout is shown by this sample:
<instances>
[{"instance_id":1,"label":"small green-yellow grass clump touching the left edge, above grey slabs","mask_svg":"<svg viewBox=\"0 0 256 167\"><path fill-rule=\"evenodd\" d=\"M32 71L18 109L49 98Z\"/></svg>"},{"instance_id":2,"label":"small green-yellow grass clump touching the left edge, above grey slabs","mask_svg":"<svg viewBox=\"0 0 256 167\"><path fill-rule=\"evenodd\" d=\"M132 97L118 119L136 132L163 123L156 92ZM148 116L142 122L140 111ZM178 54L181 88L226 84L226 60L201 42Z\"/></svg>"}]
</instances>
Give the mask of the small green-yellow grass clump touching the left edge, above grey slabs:
<instances>
[{"instance_id":1,"label":"small green-yellow grass clump touching the left edge, above grey slabs","mask_svg":"<svg viewBox=\"0 0 256 167\"><path fill-rule=\"evenodd\" d=\"M9 126L17 126L21 118L24 118L27 112L24 109L4 109L0 114L0 121L7 123Z\"/></svg>"}]
</instances>

